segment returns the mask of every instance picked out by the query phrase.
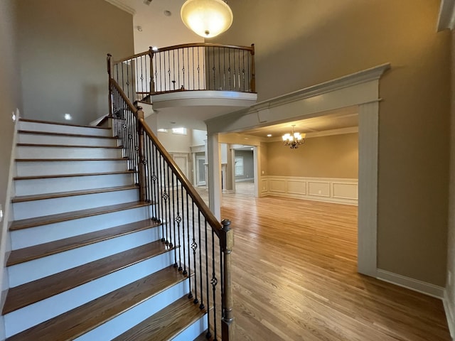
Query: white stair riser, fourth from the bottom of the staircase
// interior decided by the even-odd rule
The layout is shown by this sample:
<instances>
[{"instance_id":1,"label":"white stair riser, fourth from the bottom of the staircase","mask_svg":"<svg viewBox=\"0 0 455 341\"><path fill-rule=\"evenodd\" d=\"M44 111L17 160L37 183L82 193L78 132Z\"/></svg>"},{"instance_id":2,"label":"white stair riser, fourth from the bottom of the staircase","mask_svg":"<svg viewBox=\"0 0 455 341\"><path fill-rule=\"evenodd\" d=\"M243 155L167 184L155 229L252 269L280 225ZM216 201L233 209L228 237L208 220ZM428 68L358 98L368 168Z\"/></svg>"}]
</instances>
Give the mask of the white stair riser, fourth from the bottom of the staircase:
<instances>
[{"instance_id":1,"label":"white stair riser, fourth from the bottom of the staircase","mask_svg":"<svg viewBox=\"0 0 455 341\"><path fill-rule=\"evenodd\" d=\"M112 256L112 254L117 254L134 247L140 247L141 245L154 242L160 237L159 229L148 229L9 266L9 285L10 287L20 286L23 283L57 274L60 271L72 269L75 266L80 266L90 261Z\"/></svg>"}]
</instances>

